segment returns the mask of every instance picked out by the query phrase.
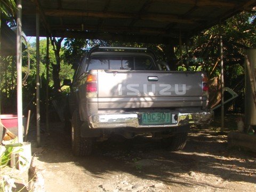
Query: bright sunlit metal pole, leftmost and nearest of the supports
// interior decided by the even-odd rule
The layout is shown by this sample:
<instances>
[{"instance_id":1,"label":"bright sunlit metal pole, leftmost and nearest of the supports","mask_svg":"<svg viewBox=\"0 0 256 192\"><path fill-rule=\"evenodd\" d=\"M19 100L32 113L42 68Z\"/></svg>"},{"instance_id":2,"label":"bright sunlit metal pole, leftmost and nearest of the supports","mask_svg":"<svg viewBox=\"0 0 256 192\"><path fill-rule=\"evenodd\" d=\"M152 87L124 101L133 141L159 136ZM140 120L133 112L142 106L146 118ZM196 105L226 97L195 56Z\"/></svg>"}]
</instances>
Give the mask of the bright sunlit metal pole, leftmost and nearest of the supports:
<instances>
[{"instance_id":1,"label":"bright sunlit metal pole, leftmost and nearest of the supports","mask_svg":"<svg viewBox=\"0 0 256 192\"><path fill-rule=\"evenodd\" d=\"M21 44L21 0L17 1L17 114L18 114L18 142L23 142L22 125L22 44Z\"/></svg>"}]
</instances>

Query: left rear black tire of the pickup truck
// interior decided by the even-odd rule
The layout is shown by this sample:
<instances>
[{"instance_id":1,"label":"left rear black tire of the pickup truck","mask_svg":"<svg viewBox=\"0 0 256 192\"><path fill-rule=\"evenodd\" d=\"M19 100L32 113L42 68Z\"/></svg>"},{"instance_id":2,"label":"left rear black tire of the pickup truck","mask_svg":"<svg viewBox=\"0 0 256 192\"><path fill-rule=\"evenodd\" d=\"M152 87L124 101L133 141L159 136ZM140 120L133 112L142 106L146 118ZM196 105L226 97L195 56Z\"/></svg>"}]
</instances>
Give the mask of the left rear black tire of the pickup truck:
<instances>
[{"instance_id":1,"label":"left rear black tire of the pickup truck","mask_svg":"<svg viewBox=\"0 0 256 192\"><path fill-rule=\"evenodd\" d=\"M92 153L93 138L81 137L81 120L75 110L71 123L71 143L74 156L89 156Z\"/></svg>"}]
</instances>

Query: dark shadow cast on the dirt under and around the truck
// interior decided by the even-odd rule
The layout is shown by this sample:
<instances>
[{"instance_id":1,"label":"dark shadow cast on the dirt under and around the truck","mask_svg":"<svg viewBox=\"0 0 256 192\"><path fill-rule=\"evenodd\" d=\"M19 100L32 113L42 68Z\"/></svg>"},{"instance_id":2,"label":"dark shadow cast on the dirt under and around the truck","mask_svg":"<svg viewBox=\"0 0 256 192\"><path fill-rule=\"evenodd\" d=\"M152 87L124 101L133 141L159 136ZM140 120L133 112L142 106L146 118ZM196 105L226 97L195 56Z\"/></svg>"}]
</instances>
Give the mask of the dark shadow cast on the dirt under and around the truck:
<instances>
[{"instance_id":1,"label":"dark shadow cast on the dirt under and around the truck","mask_svg":"<svg viewBox=\"0 0 256 192\"><path fill-rule=\"evenodd\" d=\"M33 135L32 131L30 138L35 137ZM175 153L162 149L159 141L149 138L118 139L119 141L112 139L97 143L94 153L82 158L72 155L62 125L52 124L50 135L42 135L42 148L37 150L41 153L39 161L47 164L75 164L94 178L124 172L142 179L182 186L212 186L212 181L208 180L211 177L256 183L255 154L227 149L226 135L227 132L223 133L215 128L191 129L185 149ZM142 160L147 165L138 164ZM190 171L201 175L201 179L187 177Z\"/></svg>"}]
</instances>

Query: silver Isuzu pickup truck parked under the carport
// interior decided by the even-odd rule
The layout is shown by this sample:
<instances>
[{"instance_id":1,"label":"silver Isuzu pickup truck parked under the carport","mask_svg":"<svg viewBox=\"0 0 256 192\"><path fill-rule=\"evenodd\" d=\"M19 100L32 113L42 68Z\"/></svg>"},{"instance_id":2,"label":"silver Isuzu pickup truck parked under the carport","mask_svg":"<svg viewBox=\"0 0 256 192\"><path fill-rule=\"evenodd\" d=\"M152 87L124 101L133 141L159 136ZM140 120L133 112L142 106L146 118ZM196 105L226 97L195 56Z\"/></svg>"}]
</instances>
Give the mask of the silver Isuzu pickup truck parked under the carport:
<instances>
[{"instance_id":1,"label":"silver Isuzu pickup truck parked under the carport","mask_svg":"<svg viewBox=\"0 0 256 192\"><path fill-rule=\"evenodd\" d=\"M163 70L164 68L164 70ZM66 123L76 156L111 134L161 139L170 150L186 145L191 124L210 123L208 84L202 72L168 71L146 48L93 47L70 85Z\"/></svg>"}]
</instances>

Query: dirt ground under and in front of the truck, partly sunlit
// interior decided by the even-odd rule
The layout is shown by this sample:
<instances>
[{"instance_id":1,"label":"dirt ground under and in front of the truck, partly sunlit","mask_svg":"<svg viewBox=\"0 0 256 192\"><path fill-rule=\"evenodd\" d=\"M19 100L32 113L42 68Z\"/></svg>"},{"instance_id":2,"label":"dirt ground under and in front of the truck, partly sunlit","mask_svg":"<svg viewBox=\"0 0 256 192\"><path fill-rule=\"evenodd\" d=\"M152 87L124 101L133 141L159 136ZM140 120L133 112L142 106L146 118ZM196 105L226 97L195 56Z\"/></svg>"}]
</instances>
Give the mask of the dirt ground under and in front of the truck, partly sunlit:
<instances>
[{"instance_id":1,"label":"dirt ground under and in front of the truck, partly sunlit","mask_svg":"<svg viewBox=\"0 0 256 192\"><path fill-rule=\"evenodd\" d=\"M175 153L150 138L115 138L97 143L90 157L78 158L62 124L54 123L33 151L45 168L46 191L256 191L256 154L228 149L234 116L226 117L226 125L223 132L218 121L207 130L192 128L185 149ZM26 173L20 177L26 185Z\"/></svg>"}]
</instances>

